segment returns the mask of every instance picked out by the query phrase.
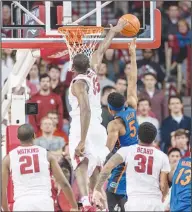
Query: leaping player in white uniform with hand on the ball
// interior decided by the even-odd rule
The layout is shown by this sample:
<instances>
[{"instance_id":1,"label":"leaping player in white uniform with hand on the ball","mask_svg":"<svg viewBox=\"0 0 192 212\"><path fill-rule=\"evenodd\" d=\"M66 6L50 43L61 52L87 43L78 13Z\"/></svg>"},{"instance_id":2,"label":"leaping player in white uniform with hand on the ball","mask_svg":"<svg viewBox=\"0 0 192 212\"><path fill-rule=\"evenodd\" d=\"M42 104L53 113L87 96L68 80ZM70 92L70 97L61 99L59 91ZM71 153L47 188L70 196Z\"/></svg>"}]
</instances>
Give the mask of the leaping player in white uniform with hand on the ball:
<instances>
[{"instance_id":1,"label":"leaping player in white uniform with hand on the ball","mask_svg":"<svg viewBox=\"0 0 192 212\"><path fill-rule=\"evenodd\" d=\"M109 48L114 36L119 33L127 21L120 20L115 27L111 26L91 61L84 54L73 58L72 71L74 79L69 88L71 126L69 135L69 152L75 170L84 211L94 211L88 198L88 179L93 189L100 166L98 155L101 148L106 148L107 134L101 125L100 85L97 81L97 70L100 68L104 53ZM103 156L106 158L109 150Z\"/></svg>"}]
</instances>

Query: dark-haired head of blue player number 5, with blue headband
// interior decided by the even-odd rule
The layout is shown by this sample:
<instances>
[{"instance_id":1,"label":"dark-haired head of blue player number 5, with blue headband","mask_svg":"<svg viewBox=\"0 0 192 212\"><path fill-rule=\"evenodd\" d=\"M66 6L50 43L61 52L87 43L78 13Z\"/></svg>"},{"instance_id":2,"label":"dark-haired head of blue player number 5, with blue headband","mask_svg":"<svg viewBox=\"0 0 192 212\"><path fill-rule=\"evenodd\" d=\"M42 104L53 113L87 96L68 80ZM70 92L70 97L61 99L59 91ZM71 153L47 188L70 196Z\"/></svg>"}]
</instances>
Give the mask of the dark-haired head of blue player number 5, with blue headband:
<instances>
[{"instance_id":1,"label":"dark-haired head of blue player number 5, with blue headband","mask_svg":"<svg viewBox=\"0 0 192 212\"><path fill-rule=\"evenodd\" d=\"M111 115L115 115L124 109L125 98L117 92L110 93L108 96L108 110Z\"/></svg>"}]
</instances>

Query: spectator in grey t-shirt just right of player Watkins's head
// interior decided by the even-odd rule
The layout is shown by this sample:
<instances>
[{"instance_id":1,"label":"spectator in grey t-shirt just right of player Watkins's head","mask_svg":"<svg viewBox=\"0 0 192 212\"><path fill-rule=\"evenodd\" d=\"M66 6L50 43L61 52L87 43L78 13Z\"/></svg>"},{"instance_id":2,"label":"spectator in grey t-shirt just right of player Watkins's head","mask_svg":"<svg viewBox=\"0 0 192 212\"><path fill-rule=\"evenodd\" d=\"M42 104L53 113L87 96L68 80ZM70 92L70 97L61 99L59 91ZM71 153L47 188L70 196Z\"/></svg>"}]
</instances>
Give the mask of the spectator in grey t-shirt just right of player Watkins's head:
<instances>
[{"instance_id":1,"label":"spectator in grey t-shirt just right of player Watkins's head","mask_svg":"<svg viewBox=\"0 0 192 212\"><path fill-rule=\"evenodd\" d=\"M65 141L62 137L53 135L53 122L50 118L42 118L41 130L42 136L35 139L35 145L41 146L55 155L61 155Z\"/></svg>"}]
</instances>

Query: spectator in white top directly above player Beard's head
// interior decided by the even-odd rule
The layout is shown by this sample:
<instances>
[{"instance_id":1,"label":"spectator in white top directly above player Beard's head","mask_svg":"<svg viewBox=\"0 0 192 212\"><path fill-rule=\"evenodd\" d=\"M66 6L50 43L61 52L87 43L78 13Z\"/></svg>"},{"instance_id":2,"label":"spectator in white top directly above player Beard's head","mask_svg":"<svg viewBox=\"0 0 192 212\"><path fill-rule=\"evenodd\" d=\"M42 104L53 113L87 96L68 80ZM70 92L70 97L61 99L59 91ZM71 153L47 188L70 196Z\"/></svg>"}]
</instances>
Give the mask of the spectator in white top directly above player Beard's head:
<instances>
[{"instance_id":1,"label":"spectator in white top directly above player Beard's head","mask_svg":"<svg viewBox=\"0 0 192 212\"><path fill-rule=\"evenodd\" d=\"M150 122L152 123L156 129L157 129L157 137L156 137L156 143L159 142L159 122L156 118L153 118L150 116L149 112L151 110L151 102L149 99L140 99L138 101L138 114L137 120L139 124L142 124L143 122Z\"/></svg>"}]
</instances>

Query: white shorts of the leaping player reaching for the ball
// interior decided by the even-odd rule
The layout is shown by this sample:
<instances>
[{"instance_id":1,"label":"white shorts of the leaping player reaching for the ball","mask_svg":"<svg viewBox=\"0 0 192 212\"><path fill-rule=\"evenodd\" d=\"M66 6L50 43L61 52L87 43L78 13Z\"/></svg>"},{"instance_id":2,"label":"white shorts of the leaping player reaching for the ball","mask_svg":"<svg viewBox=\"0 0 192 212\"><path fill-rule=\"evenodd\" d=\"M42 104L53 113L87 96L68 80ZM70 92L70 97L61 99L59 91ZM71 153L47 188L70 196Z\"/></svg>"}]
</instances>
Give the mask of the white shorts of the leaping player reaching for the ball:
<instances>
[{"instance_id":1,"label":"white shorts of the leaping player reaching for the ball","mask_svg":"<svg viewBox=\"0 0 192 212\"><path fill-rule=\"evenodd\" d=\"M75 157L75 148L81 140L80 127L71 126L69 134L69 154L73 169L75 170L84 158L89 161L88 164L88 176L91 177L93 171L97 166L101 166L101 160L99 160L99 154L107 142L107 132L105 127L101 124L90 125L87 139L85 141L85 155L84 157Z\"/></svg>"}]
</instances>

